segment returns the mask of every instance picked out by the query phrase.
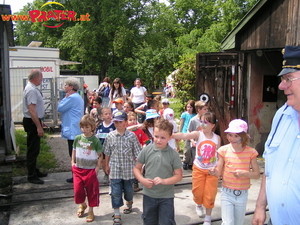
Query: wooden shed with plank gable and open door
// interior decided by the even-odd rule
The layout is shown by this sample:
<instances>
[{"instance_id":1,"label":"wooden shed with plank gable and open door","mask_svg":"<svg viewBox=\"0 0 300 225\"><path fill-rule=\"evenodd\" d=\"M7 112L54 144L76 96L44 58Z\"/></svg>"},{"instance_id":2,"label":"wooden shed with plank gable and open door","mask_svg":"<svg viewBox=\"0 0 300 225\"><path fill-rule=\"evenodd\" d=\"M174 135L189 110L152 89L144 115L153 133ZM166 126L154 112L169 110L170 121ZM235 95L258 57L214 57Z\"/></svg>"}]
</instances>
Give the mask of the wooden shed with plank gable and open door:
<instances>
[{"instance_id":1,"label":"wooden shed with plank gable and open door","mask_svg":"<svg viewBox=\"0 0 300 225\"><path fill-rule=\"evenodd\" d=\"M198 97L210 96L222 140L230 120L249 124L250 146L263 152L276 110L286 97L278 90L282 49L300 44L300 1L261 0L222 42L222 52L199 53Z\"/></svg>"}]
</instances>

